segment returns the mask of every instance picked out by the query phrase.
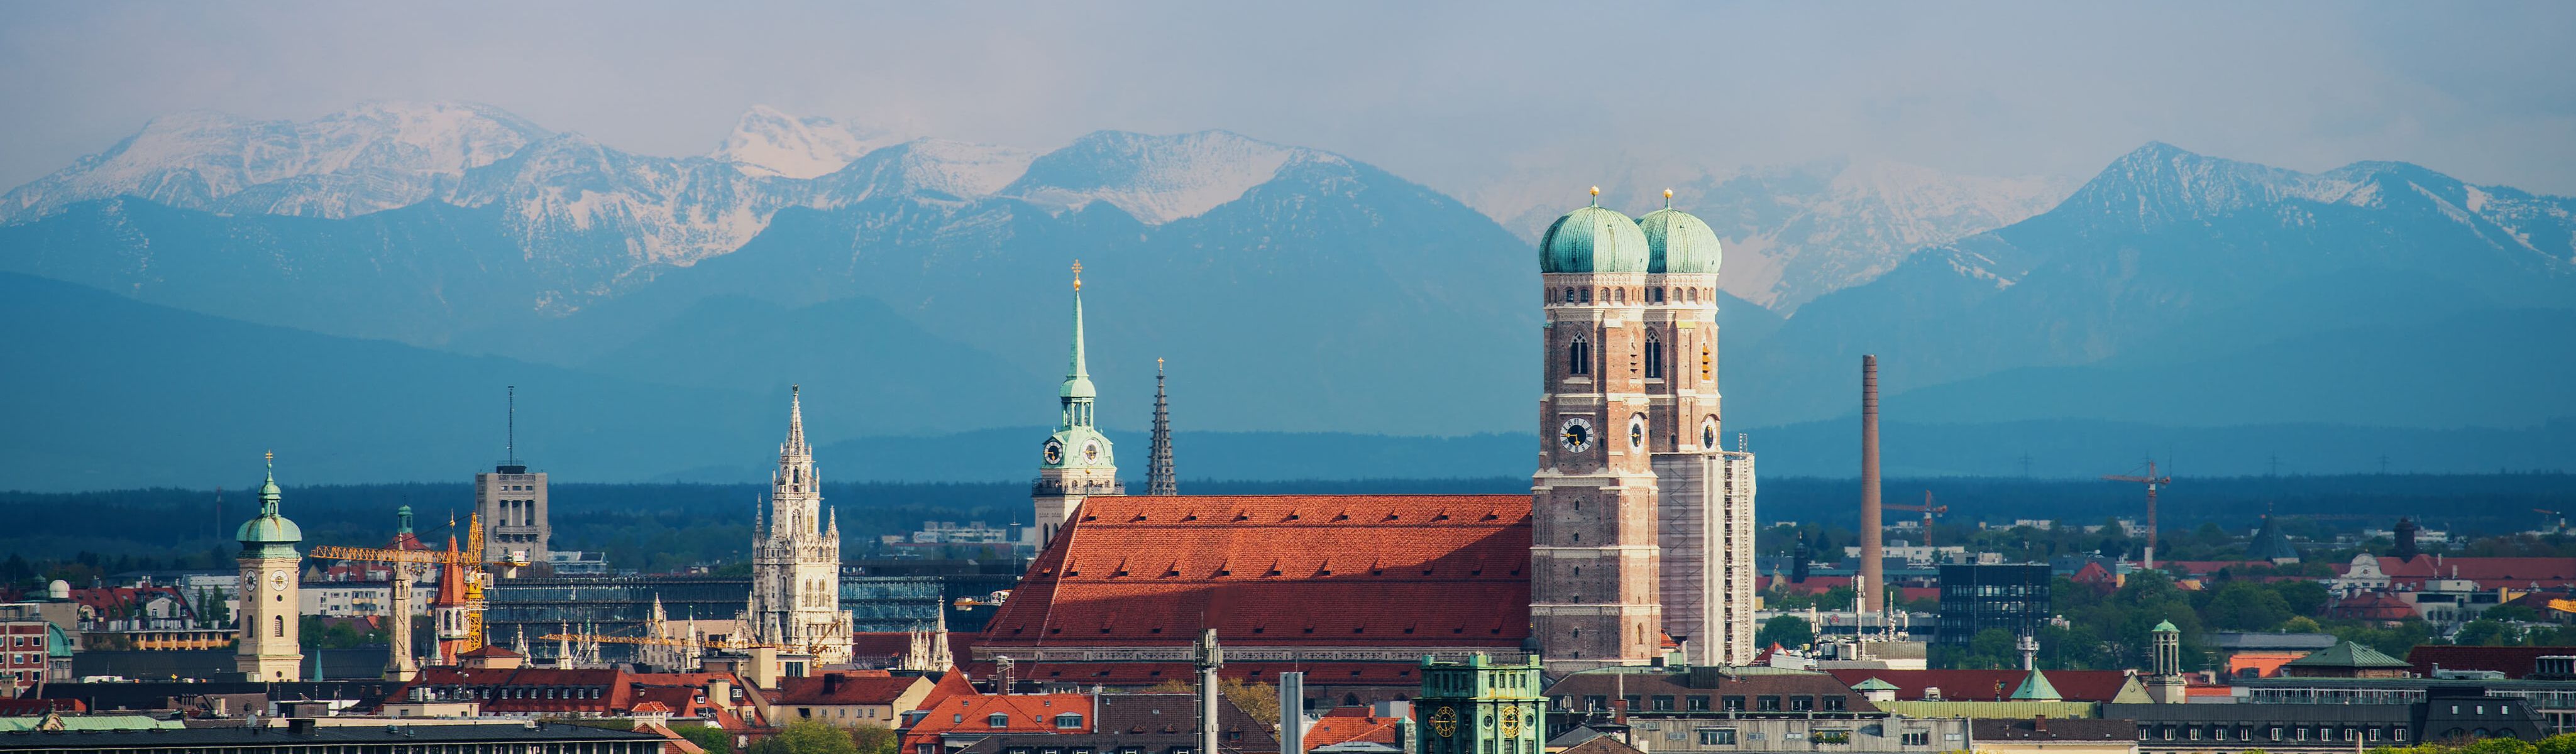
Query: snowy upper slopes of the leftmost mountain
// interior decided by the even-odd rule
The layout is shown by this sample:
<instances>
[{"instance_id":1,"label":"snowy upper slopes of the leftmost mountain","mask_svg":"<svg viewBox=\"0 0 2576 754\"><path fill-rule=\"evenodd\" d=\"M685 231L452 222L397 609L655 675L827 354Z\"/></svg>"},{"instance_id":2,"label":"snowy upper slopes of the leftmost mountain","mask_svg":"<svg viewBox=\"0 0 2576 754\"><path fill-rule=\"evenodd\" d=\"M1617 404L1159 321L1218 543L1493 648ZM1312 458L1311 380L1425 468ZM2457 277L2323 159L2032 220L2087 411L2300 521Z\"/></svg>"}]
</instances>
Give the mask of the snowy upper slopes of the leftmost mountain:
<instances>
[{"instance_id":1,"label":"snowy upper slopes of the leftmost mountain","mask_svg":"<svg viewBox=\"0 0 2576 754\"><path fill-rule=\"evenodd\" d=\"M363 103L307 124L178 113L0 196L0 224L142 196L178 208L355 216L440 196L546 129L474 103Z\"/></svg>"}]
</instances>

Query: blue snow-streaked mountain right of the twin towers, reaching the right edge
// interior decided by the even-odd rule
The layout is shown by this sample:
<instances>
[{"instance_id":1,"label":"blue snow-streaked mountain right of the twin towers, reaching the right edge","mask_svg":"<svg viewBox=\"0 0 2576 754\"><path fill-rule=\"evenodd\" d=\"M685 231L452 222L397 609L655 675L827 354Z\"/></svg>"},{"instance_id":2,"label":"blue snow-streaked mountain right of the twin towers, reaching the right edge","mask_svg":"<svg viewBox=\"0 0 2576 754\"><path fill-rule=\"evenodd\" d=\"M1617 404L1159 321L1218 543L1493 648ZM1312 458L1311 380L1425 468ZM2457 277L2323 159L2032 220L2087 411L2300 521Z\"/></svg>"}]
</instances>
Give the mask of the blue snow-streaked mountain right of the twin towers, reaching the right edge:
<instances>
[{"instance_id":1,"label":"blue snow-streaked mountain right of the twin towers, reaching the right edge","mask_svg":"<svg viewBox=\"0 0 2576 754\"><path fill-rule=\"evenodd\" d=\"M1765 340L1754 381L1736 386L1772 396L1754 407L1762 419L1832 417L1847 396L1795 376L1844 373L1862 353L1901 371L1891 378L1932 386L2571 309L2571 239L2576 198L2468 185L2406 162L2298 172L2146 144L2045 214L1924 247L1811 301ZM2437 350L2383 342L2383 353L2396 363Z\"/></svg>"}]
</instances>

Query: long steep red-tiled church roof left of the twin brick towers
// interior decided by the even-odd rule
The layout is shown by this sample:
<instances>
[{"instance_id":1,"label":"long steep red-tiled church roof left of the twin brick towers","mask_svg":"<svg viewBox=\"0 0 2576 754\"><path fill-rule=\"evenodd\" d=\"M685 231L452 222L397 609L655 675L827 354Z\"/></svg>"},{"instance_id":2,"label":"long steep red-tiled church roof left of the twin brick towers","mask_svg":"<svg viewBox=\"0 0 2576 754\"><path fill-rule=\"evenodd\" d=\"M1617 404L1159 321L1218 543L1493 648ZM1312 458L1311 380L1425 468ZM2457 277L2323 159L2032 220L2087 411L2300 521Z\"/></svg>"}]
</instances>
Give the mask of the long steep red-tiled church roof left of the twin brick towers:
<instances>
[{"instance_id":1,"label":"long steep red-tiled church roof left of the twin brick towers","mask_svg":"<svg viewBox=\"0 0 2576 754\"><path fill-rule=\"evenodd\" d=\"M1092 497L984 646L1520 646L1530 497Z\"/></svg>"}]
</instances>

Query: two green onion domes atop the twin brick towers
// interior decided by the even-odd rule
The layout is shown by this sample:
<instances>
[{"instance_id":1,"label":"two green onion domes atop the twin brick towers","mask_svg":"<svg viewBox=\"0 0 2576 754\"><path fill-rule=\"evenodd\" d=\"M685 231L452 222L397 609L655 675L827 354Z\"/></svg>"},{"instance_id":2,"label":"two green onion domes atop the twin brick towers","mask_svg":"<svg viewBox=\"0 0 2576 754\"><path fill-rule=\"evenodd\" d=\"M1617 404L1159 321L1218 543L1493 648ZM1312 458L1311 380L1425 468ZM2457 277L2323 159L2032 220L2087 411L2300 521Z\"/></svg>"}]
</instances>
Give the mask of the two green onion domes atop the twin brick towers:
<instances>
[{"instance_id":1,"label":"two green onion domes atop the twin brick towers","mask_svg":"<svg viewBox=\"0 0 2576 754\"><path fill-rule=\"evenodd\" d=\"M1600 188L1595 188L1592 206L1579 206L1556 219L1548 234L1538 239L1540 273L1716 275L1721 260L1718 234L1698 216L1672 208L1669 190L1664 193L1664 208L1628 219L1615 208L1605 208Z\"/></svg>"}]
</instances>

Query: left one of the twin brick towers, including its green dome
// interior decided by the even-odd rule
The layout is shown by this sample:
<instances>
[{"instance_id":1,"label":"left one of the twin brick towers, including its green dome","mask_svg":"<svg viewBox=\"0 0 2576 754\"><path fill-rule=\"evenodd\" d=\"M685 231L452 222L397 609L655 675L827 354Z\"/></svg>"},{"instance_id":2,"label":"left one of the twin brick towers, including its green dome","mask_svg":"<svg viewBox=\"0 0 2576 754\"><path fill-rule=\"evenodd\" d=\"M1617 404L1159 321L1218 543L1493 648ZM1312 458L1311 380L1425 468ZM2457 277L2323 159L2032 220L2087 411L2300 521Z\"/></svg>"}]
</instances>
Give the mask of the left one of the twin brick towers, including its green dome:
<instances>
[{"instance_id":1,"label":"left one of the twin brick towers, including its green dome","mask_svg":"<svg viewBox=\"0 0 2576 754\"><path fill-rule=\"evenodd\" d=\"M1530 633L1551 672L1662 656L1646 234L1577 208L1538 244L1546 335L1530 479Z\"/></svg>"}]
</instances>

